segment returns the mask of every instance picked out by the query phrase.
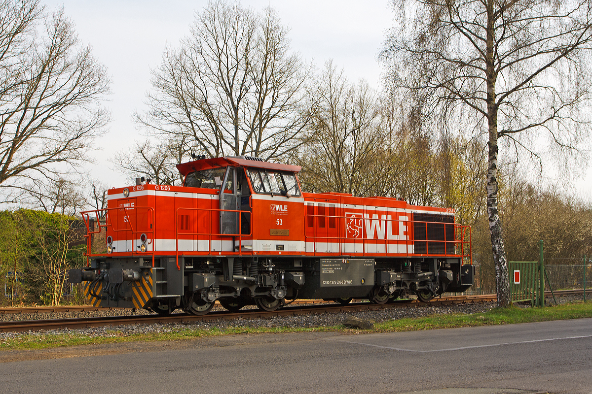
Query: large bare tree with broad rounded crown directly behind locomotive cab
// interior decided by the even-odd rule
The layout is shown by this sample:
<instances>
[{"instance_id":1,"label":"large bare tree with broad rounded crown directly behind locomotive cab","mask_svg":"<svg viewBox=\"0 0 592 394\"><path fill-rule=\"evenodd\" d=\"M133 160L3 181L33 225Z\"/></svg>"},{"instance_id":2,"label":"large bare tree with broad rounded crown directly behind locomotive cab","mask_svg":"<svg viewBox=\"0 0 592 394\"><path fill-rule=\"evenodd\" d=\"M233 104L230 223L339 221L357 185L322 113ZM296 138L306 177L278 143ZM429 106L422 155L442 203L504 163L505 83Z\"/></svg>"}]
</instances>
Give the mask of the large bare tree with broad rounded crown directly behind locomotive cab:
<instances>
[{"instance_id":1,"label":"large bare tree with broad rounded crown directly behind locomotive cab","mask_svg":"<svg viewBox=\"0 0 592 394\"><path fill-rule=\"evenodd\" d=\"M284 156L300 144L308 69L290 52L288 30L271 8L211 2L191 34L169 48L153 71L149 133L188 142L209 157Z\"/></svg>"}]
</instances>

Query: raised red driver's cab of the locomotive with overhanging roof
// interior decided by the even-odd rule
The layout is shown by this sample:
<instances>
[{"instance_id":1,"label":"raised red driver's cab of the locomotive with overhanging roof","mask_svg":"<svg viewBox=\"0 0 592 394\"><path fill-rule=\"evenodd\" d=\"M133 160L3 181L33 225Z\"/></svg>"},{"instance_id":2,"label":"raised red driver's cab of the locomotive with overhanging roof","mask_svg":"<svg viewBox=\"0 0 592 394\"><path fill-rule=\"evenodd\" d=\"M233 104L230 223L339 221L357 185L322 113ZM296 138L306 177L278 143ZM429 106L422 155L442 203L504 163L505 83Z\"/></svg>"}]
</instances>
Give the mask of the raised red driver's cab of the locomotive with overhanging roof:
<instances>
[{"instance_id":1,"label":"raised red driver's cab of the locomotive with overhanging roof","mask_svg":"<svg viewBox=\"0 0 592 394\"><path fill-rule=\"evenodd\" d=\"M177 168L185 176L184 187L218 191L220 235L240 236L240 245L224 250L281 255L300 249L303 197L296 175L300 167L233 157L202 159Z\"/></svg>"}]
</instances>

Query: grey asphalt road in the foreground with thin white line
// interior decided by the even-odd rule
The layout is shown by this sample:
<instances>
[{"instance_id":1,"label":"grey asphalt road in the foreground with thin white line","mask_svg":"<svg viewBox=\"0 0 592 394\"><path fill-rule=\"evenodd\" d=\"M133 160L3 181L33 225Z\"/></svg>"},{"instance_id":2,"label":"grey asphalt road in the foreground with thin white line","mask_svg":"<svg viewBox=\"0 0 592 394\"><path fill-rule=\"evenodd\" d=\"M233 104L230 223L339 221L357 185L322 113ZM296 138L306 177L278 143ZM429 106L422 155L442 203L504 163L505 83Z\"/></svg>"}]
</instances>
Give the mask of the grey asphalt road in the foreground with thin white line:
<instances>
[{"instance_id":1,"label":"grey asphalt road in the foreground with thin white line","mask_svg":"<svg viewBox=\"0 0 592 394\"><path fill-rule=\"evenodd\" d=\"M100 355L85 356L86 351ZM53 350L45 357L67 358L0 363L0 392L404 393L488 388L437 393L592 393L592 319L410 333L266 334L82 346Z\"/></svg>"}]
</instances>

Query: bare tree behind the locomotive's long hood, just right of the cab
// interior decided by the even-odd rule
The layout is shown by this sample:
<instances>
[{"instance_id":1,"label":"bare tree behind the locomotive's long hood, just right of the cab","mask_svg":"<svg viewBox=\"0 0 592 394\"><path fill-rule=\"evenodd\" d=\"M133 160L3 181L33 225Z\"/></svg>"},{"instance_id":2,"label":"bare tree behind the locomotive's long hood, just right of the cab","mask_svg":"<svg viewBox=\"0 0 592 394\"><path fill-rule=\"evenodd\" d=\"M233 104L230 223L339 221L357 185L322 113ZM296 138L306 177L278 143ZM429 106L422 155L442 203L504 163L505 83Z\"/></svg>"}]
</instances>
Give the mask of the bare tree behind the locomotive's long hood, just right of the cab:
<instances>
[{"instance_id":1,"label":"bare tree behind the locomotive's long hood, just right of the cab","mask_svg":"<svg viewBox=\"0 0 592 394\"><path fill-rule=\"evenodd\" d=\"M385 139L378 128L376 93L365 82L349 83L331 61L314 85L310 138L291 158L303 167L300 181L311 192L366 196L375 185L369 171L384 164L378 163Z\"/></svg>"}]
</instances>

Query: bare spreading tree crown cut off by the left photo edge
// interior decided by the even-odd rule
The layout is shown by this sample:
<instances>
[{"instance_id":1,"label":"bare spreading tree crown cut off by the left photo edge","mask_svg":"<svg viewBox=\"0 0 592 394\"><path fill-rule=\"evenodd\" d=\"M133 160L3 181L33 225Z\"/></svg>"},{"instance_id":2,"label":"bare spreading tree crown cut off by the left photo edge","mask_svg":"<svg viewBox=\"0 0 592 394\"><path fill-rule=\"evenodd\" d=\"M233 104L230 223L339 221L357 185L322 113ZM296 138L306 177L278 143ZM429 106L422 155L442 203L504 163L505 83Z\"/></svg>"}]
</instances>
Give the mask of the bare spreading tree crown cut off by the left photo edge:
<instances>
[{"instance_id":1,"label":"bare spreading tree crown cut off by the left photo edge","mask_svg":"<svg viewBox=\"0 0 592 394\"><path fill-rule=\"evenodd\" d=\"M0 27L0 188L9 188L86 159L108 121L99 100L109 79L63 9L4 0Z\"/></svg>"}]
</instances>

